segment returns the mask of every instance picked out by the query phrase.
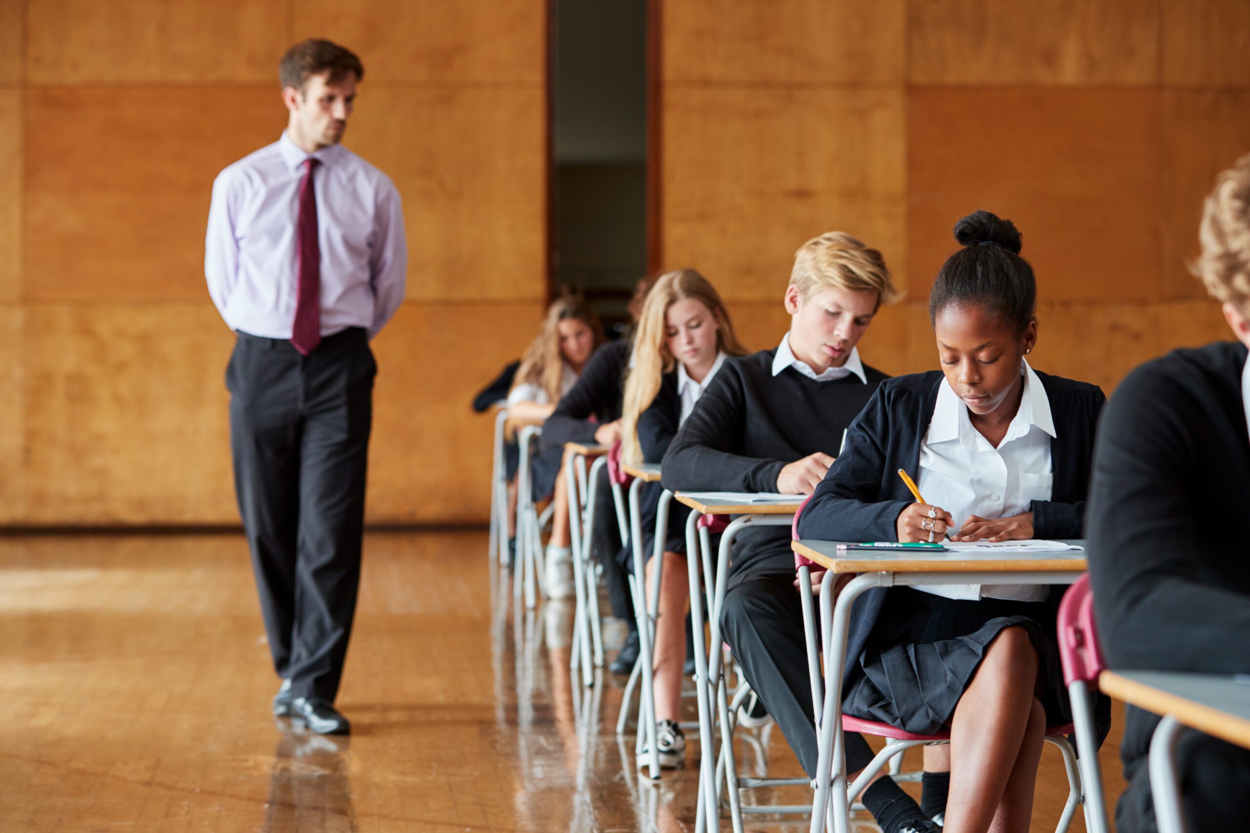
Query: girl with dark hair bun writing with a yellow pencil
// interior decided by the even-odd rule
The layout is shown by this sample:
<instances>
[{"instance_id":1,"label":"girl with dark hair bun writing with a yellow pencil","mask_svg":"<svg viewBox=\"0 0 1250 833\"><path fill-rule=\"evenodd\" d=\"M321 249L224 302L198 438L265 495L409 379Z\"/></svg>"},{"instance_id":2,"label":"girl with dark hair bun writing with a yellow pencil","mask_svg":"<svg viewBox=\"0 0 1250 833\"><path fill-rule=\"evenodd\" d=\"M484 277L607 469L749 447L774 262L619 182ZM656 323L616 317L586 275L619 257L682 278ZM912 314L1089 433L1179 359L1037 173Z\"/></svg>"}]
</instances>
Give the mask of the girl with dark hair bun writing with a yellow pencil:
<instances>
[{"instance_id":1,"label":"girl with dark hair bun writing with a yellow pencil","mask_svg":"<svg viewBox=\"0 0 1250 833\"><path fill-rule=\"evenodd\" d=\"M1079 538L1102 392L1035 371L1036 281L1009 220L978 211L929 296L939 371L888 380L799 520L805 538ZM931 503L912 500L911 473ZM842 709L950 731L948 829L1028 831L1048 724L1068 723L1062 587L878 588L851 612ZM1102 706L1106 706L1105 703ZM1101 723L1110 712L1100 709Z\"/></svg>"}]
</instances>

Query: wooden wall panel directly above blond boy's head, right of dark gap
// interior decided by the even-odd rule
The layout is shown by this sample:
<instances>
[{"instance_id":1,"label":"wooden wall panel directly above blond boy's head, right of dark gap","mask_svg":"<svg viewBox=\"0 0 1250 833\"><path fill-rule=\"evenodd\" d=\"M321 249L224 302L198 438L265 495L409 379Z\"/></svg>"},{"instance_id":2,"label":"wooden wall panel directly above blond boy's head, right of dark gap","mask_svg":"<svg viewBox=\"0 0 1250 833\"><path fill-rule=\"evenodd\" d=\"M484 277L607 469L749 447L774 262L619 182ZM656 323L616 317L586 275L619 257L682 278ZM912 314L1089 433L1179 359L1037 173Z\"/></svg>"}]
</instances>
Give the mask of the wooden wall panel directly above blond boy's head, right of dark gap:
<instances>
[{"instance_id":1,"label":"wooden wall panel directly above blond boy's head, right of dark gap","mask_svg":"<svg viewBox=\"0 0 1250 833\"><path fill-rule=\"evenodd\" d=\"M665 269L772 301L795 250L841 230L906 286L901 92L675 87L664 101Z\"/></svg>"}]
</instances>

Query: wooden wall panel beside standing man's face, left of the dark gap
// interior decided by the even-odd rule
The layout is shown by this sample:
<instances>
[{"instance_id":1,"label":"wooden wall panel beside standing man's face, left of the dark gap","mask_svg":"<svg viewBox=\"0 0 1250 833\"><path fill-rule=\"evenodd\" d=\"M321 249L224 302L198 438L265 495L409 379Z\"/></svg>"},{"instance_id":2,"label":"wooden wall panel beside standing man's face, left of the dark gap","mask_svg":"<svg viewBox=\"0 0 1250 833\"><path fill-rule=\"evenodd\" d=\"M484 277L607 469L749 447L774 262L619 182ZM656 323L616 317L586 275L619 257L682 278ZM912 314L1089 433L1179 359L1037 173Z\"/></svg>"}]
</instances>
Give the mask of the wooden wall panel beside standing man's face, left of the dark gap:
<instances>
[{"instance_id":1,"label":"wooden wall panel beside standing man's face, left of the dark gap","mask_svg":"<svg viewBox=\"0 0 1250 833\"><path fill-rule=\"evenodd\" d=\"M544 94L362 90L349 142L402 195L409 300L545 297Z\"/></svg>"}]
</instances>

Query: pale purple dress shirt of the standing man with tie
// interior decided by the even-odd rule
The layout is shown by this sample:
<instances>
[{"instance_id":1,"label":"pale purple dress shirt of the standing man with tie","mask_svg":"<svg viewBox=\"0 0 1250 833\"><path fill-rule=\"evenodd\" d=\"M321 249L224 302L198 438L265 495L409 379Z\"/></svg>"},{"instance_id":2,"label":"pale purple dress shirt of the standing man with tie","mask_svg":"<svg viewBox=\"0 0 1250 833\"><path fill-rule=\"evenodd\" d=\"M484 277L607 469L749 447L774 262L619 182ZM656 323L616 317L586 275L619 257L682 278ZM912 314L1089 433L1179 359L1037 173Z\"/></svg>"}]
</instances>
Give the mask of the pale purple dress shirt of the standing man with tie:
<instances>
[{"instance_id":1,"label":"pale purple dress shirt of the standing man with tie","mask_svg":"<svg viewBox=\"0 0 1250 833\"><path fill-rule=\"evenodd\" d=\"M341 145L311 154L321 247L321 335L372 338L404 301L408 244L395 184ZM286 134L212 184L204 274L231 330L290 338L299 286L296 222L304 160Z\"/></svg>"}]
</instances>

